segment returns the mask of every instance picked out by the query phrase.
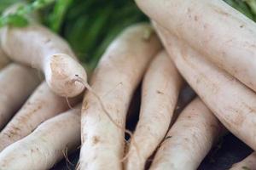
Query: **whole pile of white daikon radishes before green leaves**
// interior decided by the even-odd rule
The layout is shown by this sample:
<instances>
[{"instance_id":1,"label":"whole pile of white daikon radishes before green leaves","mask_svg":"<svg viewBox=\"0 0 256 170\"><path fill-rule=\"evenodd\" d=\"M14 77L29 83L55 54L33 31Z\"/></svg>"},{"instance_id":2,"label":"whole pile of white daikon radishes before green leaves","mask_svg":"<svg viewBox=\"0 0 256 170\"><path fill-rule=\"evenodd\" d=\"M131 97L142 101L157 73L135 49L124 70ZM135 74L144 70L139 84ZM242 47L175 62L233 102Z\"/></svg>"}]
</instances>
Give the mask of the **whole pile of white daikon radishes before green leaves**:
<instances>
[{"instance_id":1,"label":"whole pile of white daikon radishes before green leaves","mask_svg":"<svg viewBox=\"0 0 256 170\"><path fill-rule=\"evenodd\" d=\"M149 169L194 170L227 131L256 150L253 21L221 0L137 5L152 24L122 31L89 82L48 28L0 30L0 170L49 169L79 147L80 170L139 170L149 158ZM140 82L131 133L126 116ZM198 97L176 115L185 82ZM231 167L242 168L256 168L255 153Z\"/></svg>"}]
</instances>

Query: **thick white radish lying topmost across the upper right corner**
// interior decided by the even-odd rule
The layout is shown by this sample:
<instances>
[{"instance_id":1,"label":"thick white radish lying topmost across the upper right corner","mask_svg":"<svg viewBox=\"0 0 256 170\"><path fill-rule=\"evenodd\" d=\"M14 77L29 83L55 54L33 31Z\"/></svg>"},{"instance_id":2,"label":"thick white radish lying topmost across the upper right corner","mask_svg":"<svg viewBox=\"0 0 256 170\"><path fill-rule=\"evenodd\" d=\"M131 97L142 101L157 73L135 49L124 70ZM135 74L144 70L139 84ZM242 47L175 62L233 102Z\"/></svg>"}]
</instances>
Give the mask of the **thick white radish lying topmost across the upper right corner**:
<instances>
[{"instance_id":1,"label":"thick white radish lying topmost across the upper right corner","mask_svg":"<svg viewBox=\"0 0 256 170\"><path fill-rule=\"evenodd\" d=\"M256 91L256 25L222 0L136 0L160 26Z\"/></svg>"}]
</instances>

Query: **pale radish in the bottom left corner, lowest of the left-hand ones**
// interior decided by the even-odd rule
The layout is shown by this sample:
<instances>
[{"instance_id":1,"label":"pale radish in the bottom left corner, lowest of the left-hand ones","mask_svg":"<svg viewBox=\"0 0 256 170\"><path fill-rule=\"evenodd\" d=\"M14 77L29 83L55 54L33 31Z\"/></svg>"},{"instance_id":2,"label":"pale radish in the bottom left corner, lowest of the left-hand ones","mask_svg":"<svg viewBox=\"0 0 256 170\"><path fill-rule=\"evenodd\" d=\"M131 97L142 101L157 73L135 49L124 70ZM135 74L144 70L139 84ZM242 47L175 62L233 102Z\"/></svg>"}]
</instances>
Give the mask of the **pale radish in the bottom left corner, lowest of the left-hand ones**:
<instances>
[{"instance_id":1,"label":"pale radish in the bottom left corner, lowest of the left-hand ones","mask_svg":"<svg viewBox=\"0 0 256 170\"><path fill-rule=\"evenodd\" d=\"M79 107L80 108L80 107ZM55 116L0 153L1 170L45 170L80 144L80 109Z\"/></svg>"}]
</instances>

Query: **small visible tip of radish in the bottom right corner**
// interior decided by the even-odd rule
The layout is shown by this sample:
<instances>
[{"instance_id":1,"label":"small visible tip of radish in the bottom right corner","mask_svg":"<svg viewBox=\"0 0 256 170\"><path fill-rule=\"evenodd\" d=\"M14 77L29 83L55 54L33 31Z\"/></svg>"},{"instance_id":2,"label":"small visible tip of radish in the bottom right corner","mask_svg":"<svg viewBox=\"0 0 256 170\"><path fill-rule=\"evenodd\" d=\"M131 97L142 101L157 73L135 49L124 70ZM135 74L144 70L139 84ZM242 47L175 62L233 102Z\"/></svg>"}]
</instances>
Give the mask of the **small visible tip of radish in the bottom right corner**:
<instances>
[{"instance_id":1,"label":"small visible tip of radish in the bottom right corner","mask_svg":"<svg viewBox=\"0 0 256 170\"><path fill-rule=\"evenodd\" d=\"M255 170L256 169L256 152L247 156L244 160L234 164L230 170Z\"/></svg>"}]
</instances>

